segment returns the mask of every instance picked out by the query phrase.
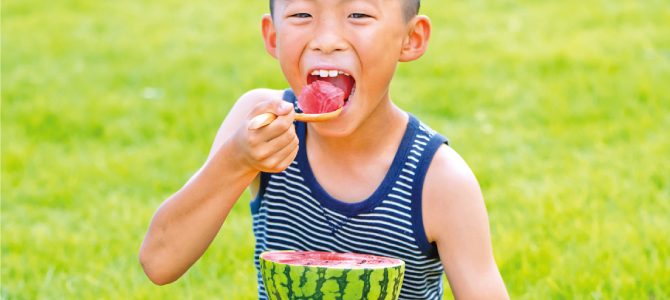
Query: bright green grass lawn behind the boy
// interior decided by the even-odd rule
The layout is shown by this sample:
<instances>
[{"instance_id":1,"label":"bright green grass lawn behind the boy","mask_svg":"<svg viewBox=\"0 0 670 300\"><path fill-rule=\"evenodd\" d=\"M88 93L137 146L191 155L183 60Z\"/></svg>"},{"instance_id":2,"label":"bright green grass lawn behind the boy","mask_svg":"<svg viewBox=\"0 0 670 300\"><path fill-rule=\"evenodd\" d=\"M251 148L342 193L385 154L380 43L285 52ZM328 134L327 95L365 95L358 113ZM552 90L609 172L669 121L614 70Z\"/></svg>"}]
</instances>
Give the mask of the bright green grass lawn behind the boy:
<instances>
[{"instance_id":1,"label":"bright green grass lawn behind the boy","mask_svg":"<svg viewBox=\"0 0 670 300\"><path fill-rule=\"evenodd\" d=\"M670 298L667 3L424 2L430 49L392 94L477 174L512 297ZM2 298L255 297L246 196L178 282L137 252L235 99L286 86L265 10L2 3Z\"/></svg>"}]
</instances>

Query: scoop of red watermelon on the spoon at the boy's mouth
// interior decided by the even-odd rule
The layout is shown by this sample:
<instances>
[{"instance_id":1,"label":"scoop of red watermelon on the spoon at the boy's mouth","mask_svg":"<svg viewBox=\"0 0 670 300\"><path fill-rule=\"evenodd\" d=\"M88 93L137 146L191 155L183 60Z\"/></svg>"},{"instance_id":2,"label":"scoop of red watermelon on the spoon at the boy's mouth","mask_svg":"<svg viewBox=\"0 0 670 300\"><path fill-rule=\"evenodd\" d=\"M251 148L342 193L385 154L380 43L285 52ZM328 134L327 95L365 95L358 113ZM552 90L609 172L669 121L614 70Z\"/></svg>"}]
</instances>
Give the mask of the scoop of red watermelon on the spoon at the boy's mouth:
<instances>
[{"instance_id":1,"label":"scoop of red watermelon on the spoon at the boy's mouth","mask_svg":"<svg viewBox=\"0 0 670 300\"><path fill-rule=\"evenodd\" d=\"M344 106L344 98L345 91L341 88L328 81L317 80L302 88L298 107L307 114L327 113Z\"/></svg>"}]
</instances>

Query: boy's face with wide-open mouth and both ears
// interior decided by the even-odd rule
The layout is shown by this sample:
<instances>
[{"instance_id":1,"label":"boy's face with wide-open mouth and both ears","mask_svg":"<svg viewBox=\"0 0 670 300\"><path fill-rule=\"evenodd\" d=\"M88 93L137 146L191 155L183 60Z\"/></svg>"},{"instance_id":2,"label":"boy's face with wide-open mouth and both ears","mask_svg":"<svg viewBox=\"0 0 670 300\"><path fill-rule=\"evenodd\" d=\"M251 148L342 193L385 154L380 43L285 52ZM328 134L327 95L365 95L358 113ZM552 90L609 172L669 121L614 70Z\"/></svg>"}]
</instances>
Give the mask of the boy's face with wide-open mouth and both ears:
<instances>
[{"instance_id":1,"label":"boy's face with wide-open mouth and both ears","mask_svg":"<svg viewBox=\"0 0 670 300\"><path fill-rule=\"evenodd\" d=\"M316 125L323 133L355 130L388 99L398 61L425 51L425 46L418 55L406 51L415 23L404 19L403 0L275 0L274 5L274 17L263 19L263 35L293 90L299 94L317 79L353 86L342 114ZM338 76L312 75L319 70Z\"/></svg>"}]
</instances>

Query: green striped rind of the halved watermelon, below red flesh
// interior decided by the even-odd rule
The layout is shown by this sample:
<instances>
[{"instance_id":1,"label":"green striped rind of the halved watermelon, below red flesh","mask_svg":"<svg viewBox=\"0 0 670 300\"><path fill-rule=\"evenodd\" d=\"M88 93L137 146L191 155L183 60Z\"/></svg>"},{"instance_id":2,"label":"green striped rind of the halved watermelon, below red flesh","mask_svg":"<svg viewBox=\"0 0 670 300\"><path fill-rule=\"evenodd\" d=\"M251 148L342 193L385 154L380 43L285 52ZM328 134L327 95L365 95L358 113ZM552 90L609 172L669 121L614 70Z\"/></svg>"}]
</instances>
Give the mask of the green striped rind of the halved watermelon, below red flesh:
<instances>
[{"instance_id":1,"label":"green striped rind of the halved watermelon, below red flesh","mask_svg":"<svg viewBox=\"0 0 670 300\"><path fill-rule=\"evenodd\" d=\"M271 300L398 299L405 263L376 269L296 266L265 260L261 276Z\"/></svg>"}]
</instances>

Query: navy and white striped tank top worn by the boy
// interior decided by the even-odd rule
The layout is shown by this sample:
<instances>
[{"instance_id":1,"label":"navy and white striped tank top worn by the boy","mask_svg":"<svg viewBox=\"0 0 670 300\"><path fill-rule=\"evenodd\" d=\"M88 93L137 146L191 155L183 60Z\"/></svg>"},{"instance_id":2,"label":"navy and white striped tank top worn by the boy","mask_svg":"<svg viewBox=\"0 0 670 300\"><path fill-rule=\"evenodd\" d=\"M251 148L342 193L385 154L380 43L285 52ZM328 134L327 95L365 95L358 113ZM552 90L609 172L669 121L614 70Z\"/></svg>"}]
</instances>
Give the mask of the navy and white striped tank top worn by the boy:
<instances>
[{"instance_id":1,"label":"navy and white striped tank top worn by the boy","mask_svg":"<svg viewBox=\"0 0 670 300\"><path fill-rule=\"evenodd\" d=\"M296 103L292 91L284 100ZM444 269L423 228L421 192L433 155L447 140L410 115L407 129L382 183L367 199L347 203L330 196L307 159L307 125L296 122L300 147L280 173L261 173L251 202L256 238L258 298L267 299L258 257L264 251L355 252L405 261L399 299L442 299Z\"/></svg>"}]
</instances>

